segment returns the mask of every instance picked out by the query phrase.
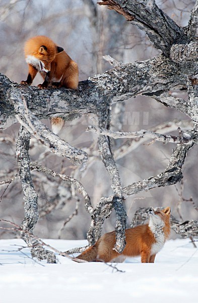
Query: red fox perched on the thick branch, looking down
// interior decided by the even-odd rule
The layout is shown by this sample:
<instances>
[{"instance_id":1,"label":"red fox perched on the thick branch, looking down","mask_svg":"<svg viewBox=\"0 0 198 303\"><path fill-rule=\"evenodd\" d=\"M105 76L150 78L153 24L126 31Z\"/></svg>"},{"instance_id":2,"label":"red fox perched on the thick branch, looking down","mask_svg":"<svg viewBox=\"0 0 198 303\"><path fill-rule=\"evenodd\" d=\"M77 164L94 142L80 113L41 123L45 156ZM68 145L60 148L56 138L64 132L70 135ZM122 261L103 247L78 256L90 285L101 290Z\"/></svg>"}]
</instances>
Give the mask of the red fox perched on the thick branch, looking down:
<instances>
[{"instance_id":1,"label":"red fox perched on the thick branch, looking down","mask_svg":"<svg viewBox=\"0 0 198 303\"><path fill-rule=\"evenodd\" d=\"M78 88L79 70L77 63L51 39L46 36L32 37L26 41L24 51L29 71L27 80L21 81L21 84L31 85L37 72L39 72L44 79L44 82L38 85L40 89L49 86ZM63 124L61 118L52 118L52 131L57 134Z\"/></svg>"}]
</instances>

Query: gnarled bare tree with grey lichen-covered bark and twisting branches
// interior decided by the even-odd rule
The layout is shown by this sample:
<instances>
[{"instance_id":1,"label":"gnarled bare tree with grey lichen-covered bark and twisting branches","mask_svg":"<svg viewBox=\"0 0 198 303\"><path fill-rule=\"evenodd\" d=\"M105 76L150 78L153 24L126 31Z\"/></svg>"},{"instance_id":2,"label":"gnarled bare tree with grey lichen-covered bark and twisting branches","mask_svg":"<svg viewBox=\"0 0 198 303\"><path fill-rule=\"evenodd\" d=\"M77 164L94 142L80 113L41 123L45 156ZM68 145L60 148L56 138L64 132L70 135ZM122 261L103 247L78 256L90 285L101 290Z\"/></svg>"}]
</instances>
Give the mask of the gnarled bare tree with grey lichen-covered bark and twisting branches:
<instances>
[{"instance_id":1,"label":"gnarled bare tree with grey lichen-covered bark and twisting branches","mask_svg":"<svg viewBox=\"0 0 198 303\"><path fill-rule=\"evenodd\" d=\"M54 174L55 177L70 182L73 196L76 196L76 189L80 192L85 201L85 208L91 217L91 225L87 234L89 245L94 244L100 237L104 220L114 209L116 214L115 249L121 252L125 246L124 230L127 217L123 207L124 200L151 188L169 186L179 182L183 177L182 167L187 153L197 144L198 1L194 4L185 28L178 26L159 9L154 0L103 0L99 5L105 5L109 9L115 10L123 15L129 23L138 26L148 35L154 46L160 49L161 54L147 61L128 64L105 57L113 68L80 82L79 89L75 91L65 89L41 91L33 86L18 85L3 74L0 76L1 128L8 128L16 122L21 124L16 154L19 170L12 178L4 180L3 184L11 184L16 177L20 177L25 205L22 238L31 247L33 256L46 258L48 262L54 262L54 255L47 257L48 251L45 251L44 248L41 249L33 236L33 229L38 220L38 196L32 183L31 170L42 171L46 175ZM180 97L178 93L175 94L175 90L185 90L187 99ZM165 107L185 114L190 119L188 125L181 126L176 136L162 135L157 130L125 133L120 132L121 129L118 128L119 132L112 132L110 130L112 104L138 95L150 96ZM94 125L90 126L88 130L99 134L98 153L97 150L93 150L93 146L79 149L70 145L54 135L40 121L40 119L54 116L62 117L65 121L72 121L84 114L89 114L93 119ZM116 115L116 112L113 114ZM118 111L117 115L119 114ZM171 128L173 124L174 122L170 123L169 127ZM166 128L167 131L169 127ZM75 176L55 174L47 168L32 164L28 154L31 134L49 152L67 158L72 165L78 166L79 169L75 170ZM123 187L115 157L121 158L125 151L121 156L121 150L113 151L111 137L136 138L136 144L138 144L139 141L142 142L141 140L145 139L145 136L154 141L176 144L168 165L160 174ZM130 145L133 144L132 139L127 146L123 144L122 149L131 150ZM114 154L117 156L114 157ZM125 154L127 153L125 152ZM90 163L96 158L98 159L99 155L108 172L113 193L109 196L102 196L94 207L89 194L78 179ZM193 221L193 224L197 226L196 221ZM27 230L30 233L27 233ZM193 228L193 230L196 231L197 228Z\"/></svg>"}]
</instances>

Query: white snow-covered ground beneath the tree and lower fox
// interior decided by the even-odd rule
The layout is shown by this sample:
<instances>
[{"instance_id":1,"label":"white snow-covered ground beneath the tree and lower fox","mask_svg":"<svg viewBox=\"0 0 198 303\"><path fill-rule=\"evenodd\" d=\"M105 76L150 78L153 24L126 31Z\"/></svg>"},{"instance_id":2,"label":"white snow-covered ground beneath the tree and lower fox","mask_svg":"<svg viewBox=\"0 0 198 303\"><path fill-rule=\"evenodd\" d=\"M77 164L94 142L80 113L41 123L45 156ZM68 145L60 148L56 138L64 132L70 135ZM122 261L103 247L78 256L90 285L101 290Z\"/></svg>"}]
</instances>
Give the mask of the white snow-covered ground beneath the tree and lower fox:
<instances>
[{"instance_id":1,"label":"white snow-covered ground beneath the tree and lower fox","mask_svg":"<svg viewBox=\"0 0 198 303\"><path fill-rule=\"evenodd\" d=\"M61 251L87 243L45 242ZM17 251L15 245L24 242L0 240L1 303L198 302L198 249L189 239L167 241L155 264L141 264L140 258L116 264L124 272L103 263L76 263L60 256L58 264L36 263L29 249Z\"/></svg>"}]
</instances>

